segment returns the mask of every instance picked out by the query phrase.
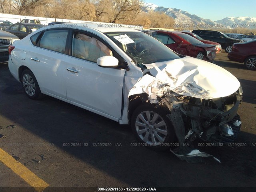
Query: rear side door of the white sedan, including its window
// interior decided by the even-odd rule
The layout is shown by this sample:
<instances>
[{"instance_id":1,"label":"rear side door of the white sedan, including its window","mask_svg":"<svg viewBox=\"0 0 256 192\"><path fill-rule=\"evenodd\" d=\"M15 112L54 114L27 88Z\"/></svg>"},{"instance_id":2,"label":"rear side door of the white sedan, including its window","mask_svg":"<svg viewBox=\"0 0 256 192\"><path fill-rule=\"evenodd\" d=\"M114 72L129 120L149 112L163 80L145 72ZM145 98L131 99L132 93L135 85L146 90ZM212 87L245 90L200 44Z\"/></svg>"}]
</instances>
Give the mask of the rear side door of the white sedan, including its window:
<instances>
[{"instance_id":1,"label":"rear side door of the white sedan, including its window","mask_svg":"<svg viewBox=\"0 0 256 192\"><path fill-rule=\"evenodd\" d=\"M40 42L30 50L31 70L36 76L41 92L64 99L66 84L63 73L66 70L66 62L63 60L67 57L64 54L67 36L68 30L47 30Z\"/></svg>"}]
</instances>

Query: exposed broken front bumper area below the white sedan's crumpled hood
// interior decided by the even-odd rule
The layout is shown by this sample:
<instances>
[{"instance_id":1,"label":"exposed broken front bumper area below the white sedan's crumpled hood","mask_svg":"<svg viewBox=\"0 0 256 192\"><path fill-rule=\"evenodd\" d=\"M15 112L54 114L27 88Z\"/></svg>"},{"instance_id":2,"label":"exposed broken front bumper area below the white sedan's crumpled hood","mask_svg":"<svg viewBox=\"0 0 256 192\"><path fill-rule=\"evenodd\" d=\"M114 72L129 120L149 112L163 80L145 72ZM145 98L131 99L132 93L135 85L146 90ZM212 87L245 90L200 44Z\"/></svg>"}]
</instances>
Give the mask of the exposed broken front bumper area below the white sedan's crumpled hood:
<instances>
[{"instance_id":1,"label":"exposed broken front bumper area below the white sedan's crumpled hood","mask_svg":"<svg viewBox=\"0 0 256 192\"><path fill-rule=\"evenodd\" d=\"M236 112L242 102L241 95L242 88L230 96L207 100L168 93L158 104L170 110L168 118L180 144L185 139L196 138L227 143L233 142L240 130L240 117Z\"/></svg>"}]
</instances>

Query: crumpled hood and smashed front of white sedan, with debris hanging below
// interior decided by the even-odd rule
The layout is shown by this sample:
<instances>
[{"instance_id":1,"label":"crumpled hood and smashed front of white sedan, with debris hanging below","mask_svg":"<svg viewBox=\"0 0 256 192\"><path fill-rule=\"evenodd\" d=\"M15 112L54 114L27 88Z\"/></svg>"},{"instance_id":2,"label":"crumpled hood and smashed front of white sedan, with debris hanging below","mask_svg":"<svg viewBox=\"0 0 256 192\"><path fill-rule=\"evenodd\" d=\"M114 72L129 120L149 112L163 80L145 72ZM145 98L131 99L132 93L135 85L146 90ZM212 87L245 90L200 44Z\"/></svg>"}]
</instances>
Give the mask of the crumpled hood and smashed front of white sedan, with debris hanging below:
<instances>
[{"instance_id":1,"label":"crumpled hood and smashed front of white sedan, with debris hanging below","mask_svg":"<svg viewBox=\"0 0 256 192\"><path fill-rule=\"evenodd\" d=\"M243 92L232 74L214 64L206 65L190 58L180 63L146 66L148 74L130 90L129 98L146 94L144 102L168 110L166 116L179 142L179 147L172 150L176 156L188 162L194 162L191 159L195 156L211 156L186 147L186 143L196 138L214 143L236 139L241 124L237 111Z\"/></svg>"}]
</instances>

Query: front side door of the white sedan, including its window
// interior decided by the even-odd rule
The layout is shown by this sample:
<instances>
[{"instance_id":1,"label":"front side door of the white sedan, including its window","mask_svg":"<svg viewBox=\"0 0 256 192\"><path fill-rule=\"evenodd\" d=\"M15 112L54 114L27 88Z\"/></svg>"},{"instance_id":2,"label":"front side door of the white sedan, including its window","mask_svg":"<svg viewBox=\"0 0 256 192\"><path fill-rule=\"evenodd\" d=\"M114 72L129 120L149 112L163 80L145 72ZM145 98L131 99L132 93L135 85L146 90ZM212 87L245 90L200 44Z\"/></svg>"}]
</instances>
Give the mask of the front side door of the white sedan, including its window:
<instances>
[{"instance_id":1,"label":"front side door of the white sedan, including its window","mask_svg":"<svg viewBox=\"0 0 256 192\"><path fill-rule=\"evenodd\" d=\"M112 54L98 38L74 32L72 56L66 60L64 78L68 100L118 121L122 111L125 69L104 68L96 63L97 58Z\"/></svg>"}]
</instances>

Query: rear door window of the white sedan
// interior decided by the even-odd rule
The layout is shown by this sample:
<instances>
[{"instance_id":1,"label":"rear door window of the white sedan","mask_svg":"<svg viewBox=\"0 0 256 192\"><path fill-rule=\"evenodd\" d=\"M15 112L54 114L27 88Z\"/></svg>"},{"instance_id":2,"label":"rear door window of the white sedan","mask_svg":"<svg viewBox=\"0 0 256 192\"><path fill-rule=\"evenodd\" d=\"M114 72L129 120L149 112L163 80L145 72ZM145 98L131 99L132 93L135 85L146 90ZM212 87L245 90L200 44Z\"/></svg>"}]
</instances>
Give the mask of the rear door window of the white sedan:
<instances>
[{"instance_id":1,"label":"rear door window of the white sedan","mask_svg":"<svg viewBox=\"0 0 256 192\"><path fill-rule=\"evenodd\" d=\"M68 30L48 30L40 39L40 47L65 53Z\"/></svg>"}]
</instances>

